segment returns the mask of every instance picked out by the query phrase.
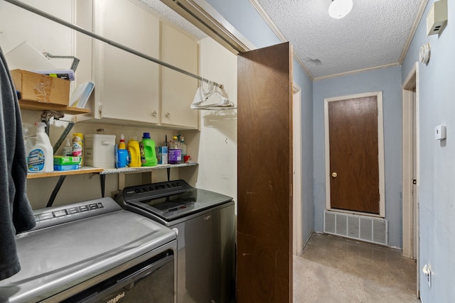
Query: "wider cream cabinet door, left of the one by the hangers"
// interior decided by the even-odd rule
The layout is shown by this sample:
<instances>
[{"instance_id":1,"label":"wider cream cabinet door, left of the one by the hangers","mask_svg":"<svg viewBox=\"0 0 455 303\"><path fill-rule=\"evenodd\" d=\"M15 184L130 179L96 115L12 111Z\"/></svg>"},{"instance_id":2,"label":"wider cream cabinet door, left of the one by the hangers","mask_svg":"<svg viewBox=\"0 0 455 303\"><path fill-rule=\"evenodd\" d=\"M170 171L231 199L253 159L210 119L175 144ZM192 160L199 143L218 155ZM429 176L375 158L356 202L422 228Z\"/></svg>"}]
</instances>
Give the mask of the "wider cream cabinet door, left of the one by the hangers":
<instances>
[{"instance_id":1,"label":"wider cream cabinet door, left of the one by the hangers","mask_svg":"<svg viewBox=\"0 0 455 303\"><path fill-rule=\"evenodd\" d=\"M159 57L159 18L139 1L95 1L95 32ZM93 60L97 118L159 123L159 66L100 41Z\"/></svg>"}]
</instances>

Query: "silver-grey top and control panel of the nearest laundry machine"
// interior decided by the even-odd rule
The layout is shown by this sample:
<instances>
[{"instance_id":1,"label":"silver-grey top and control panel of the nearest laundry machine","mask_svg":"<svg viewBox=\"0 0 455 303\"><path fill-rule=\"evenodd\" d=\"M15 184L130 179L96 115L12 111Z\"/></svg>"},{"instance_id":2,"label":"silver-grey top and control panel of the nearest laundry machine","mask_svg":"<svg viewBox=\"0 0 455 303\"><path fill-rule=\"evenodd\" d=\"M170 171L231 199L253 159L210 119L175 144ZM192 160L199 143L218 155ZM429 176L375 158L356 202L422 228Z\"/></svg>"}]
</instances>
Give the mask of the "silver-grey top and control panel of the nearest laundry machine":
<instances>
[{"instance_id":1,"label":"silver-grey top and control panel of the nearest laundry machine","mask_svg":"<svg viewBox=\"0 0 455 303\"><path fill-rule=\"evenodd\" d=\"M74 207L85 209L98 203L103 205L99 211L68 214ZM38 221L38 229L16 237L21 271L0 281L0 301L41 301L176 239L171 229L114 205L104 198L38 213L39 217L50 211L52 218ZM55 216L62 210L68 218L73 216L67 223ZM90 211L92 216L87 216ZM49 224L52 220L59 223Z\"/></svg>"}]
</instances>

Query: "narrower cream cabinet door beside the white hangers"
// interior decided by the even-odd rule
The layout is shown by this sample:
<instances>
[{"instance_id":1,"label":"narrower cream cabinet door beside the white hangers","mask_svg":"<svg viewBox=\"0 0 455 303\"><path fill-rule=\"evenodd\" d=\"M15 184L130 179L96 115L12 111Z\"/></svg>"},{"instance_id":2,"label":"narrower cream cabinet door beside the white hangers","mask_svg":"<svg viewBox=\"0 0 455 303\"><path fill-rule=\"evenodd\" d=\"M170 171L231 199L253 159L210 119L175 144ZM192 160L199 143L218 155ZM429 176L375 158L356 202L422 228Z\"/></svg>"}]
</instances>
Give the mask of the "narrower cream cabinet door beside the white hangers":
<instances>
[{"instance_id":1,"label":"narrower cream cabinet door beside the white hangers","mask_svg":"<svg viewBox=\"0 0 455 303\"><path fill-rule=\"evenodd\" d=\"M198 43L161 22L161 60L197 75ZM197 79L161 67L161 124L197 129L199 114L190 108L197 88Z\"/></svg>"}]
</instances>

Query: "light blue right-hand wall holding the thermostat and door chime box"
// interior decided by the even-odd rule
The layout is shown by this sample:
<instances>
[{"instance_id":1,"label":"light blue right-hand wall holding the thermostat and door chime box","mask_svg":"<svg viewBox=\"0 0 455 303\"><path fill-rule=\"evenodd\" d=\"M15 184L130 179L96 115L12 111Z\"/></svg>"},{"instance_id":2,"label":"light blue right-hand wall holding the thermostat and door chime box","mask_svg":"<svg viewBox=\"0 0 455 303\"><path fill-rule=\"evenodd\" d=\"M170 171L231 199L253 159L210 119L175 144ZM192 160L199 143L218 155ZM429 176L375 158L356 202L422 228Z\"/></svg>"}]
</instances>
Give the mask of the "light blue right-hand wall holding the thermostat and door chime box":
<instances>
[{"instance_id":1,"label":"light blue right-hand wall holding the thermostat and door chime box","mask_svg":"<svg viewBox=\"0 0 455 303\"><path fill-rule=\"evenodd\" d=\"M449 21L441 35L426 33L430 0L403 63L403 79L418 60L419 48L430 43L428 65L419 63L419 232L422 302L454 302L455 298L455 1L449 0ZM434 127L447 127L445 141L434 140ZM430 265L432 287L422 274Z\"/></svg>"}]
</instances>

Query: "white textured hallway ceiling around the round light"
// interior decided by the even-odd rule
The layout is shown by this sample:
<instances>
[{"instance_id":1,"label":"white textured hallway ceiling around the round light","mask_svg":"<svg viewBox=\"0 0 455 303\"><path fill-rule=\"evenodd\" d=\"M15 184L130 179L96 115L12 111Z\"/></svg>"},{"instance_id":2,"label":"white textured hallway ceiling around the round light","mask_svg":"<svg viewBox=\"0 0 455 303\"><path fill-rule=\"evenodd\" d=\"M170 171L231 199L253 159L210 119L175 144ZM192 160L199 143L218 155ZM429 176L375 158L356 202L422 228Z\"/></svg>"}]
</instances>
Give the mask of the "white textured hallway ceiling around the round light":
<instances>
[{"instance_id":1,"label":"white textured hallway ceiling around the round light","mask_svg":"<svg viewBox=\"0 0 455 303\"><path fill-rule=\"evenodd\" d=\"M331 0L255 0L314 78L399 64L423 0L353 0L345 18Z\"/></svg>"}]
</instances>

